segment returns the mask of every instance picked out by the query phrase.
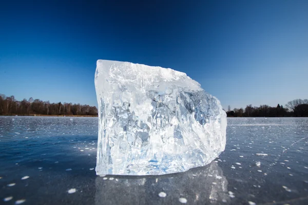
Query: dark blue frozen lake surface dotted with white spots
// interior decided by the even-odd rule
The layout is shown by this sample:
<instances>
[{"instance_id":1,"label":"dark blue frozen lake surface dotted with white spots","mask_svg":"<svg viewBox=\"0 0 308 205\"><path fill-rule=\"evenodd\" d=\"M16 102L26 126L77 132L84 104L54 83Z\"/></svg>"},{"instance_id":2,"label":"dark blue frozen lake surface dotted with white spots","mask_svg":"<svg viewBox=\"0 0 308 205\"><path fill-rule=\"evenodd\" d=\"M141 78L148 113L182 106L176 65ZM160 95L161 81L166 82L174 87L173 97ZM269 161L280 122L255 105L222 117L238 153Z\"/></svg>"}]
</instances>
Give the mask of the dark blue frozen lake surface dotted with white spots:
<instances>
[{"instance_id":1,"label":"dark blue frozen lake surface dotted with white spots","mask_svg":"<svg viewBox=\"0 0 308 205\"><path fill-rule=\"evenodd\" d=\"M95 175L98 118L0 116L0 204L308 204L308 118L228 118L215 161Z\"/></svg>"}]
</instances>

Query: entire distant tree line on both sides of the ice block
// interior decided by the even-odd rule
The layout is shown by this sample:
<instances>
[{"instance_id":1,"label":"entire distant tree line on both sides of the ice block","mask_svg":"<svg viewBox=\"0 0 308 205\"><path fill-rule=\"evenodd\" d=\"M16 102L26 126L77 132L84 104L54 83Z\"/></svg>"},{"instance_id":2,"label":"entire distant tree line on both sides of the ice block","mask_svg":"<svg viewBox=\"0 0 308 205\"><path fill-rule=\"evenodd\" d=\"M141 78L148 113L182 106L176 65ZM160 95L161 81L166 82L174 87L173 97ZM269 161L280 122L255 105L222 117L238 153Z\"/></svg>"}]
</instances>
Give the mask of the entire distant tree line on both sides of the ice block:
<instances>
[{"instance_id":1,"label":"entire distant tree line on both sides of the ice block","mask_svg":"<svg viewBox=\"0 0 308 205\"><path fill-rule=\"evenodd\" d=\"M284 107L270 107L261 105L253 107L247 105L245 109L228 106L226 111L228 117L308 117L308 99L295 99L289 101ZM12 95L7 97L0 94L0 115L98 115L95 106L71 104L71 103L49 103L32 97L15 100Z\"/></svg>"}]
</instances>

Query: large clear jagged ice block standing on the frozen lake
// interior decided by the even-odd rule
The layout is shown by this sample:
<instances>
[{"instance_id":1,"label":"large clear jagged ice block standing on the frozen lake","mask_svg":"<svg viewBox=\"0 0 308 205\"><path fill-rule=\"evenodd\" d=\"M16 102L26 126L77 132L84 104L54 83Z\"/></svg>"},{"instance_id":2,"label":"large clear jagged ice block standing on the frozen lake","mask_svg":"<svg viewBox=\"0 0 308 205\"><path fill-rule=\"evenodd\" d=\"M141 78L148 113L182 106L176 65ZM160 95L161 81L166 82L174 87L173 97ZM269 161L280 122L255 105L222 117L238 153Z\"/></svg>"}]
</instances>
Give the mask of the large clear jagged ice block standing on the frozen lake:
<instances>
[{"instance_id":1,"label":"large clear jagged ice block standing on the frozen lake","mask_svg":"<svg viewBox=\"0 0 308 205\"><path fill-rule=\"evenodd\" d=\"M225 148L226 113L185 73L98 60L98 175L159 175L204 166Z\"/></svg>"}]
</instances>

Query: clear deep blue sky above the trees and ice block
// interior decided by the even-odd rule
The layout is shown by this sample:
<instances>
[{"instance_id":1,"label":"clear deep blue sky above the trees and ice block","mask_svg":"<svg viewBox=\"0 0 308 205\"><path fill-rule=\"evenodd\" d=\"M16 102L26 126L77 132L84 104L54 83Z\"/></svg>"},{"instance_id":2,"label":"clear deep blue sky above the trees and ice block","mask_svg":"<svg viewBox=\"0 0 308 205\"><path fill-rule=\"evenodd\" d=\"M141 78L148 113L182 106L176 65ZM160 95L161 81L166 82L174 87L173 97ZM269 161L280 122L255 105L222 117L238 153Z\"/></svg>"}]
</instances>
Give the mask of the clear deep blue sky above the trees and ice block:
<instances>
[{"instance_id":1,"label":"clear deep blue sky above the trees and ice block","mask_svg":"<svg viewBox=\"0 0 308 205\"><path fill-rule=\"evenodd\" d=\"M185 72L224 108L308 98L308 1L168 2L1 1L0 93L97 106L110 59Z\"/></svg>"}]
</instances>

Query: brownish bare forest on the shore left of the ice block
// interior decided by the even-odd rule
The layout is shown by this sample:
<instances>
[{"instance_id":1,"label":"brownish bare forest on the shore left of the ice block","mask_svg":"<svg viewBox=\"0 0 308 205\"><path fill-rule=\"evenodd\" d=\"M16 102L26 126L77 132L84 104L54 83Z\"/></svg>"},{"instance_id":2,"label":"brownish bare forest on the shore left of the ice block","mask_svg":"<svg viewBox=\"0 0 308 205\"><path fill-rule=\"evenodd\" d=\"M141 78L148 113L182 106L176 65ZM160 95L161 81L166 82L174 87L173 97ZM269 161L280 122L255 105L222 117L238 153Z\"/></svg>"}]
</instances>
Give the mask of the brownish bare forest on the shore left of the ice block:
<instances>
[{"instance_id":1,"label":"brownish bare forest on the shore left of the ice block","mask_svg":"<svg viewBox=\"0 0 308 205\"><path fill-rule=\"evenodd\" d=\"M12 95L6 97L0 94L0 115L98 115L95 106L71 104L71 103L49 103L32 97L15 100Z\"/></svg>"}]
</instances>

